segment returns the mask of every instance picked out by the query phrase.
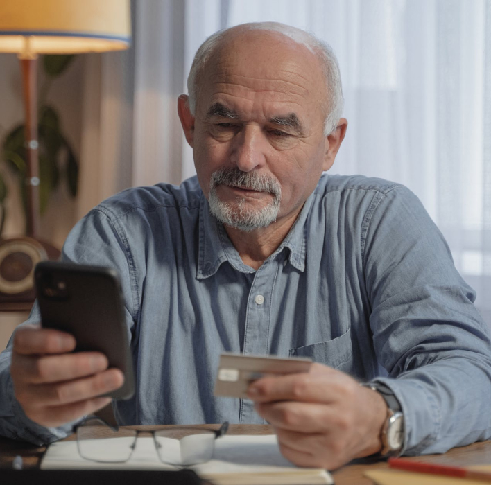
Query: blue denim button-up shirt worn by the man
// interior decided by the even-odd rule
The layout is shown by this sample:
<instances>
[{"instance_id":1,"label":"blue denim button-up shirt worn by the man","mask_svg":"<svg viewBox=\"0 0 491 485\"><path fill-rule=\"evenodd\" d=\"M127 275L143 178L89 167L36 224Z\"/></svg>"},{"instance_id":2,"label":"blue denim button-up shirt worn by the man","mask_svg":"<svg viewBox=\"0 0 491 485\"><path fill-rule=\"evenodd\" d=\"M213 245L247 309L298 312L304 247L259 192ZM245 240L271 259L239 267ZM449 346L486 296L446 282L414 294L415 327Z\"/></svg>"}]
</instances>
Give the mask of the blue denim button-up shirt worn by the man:
<instances>
[{"instance_id":1,"label":"blue denim button-up shirt worn by the man","mask_svg":"<svg viewBox=\"0 0 491 485\"><path fill-rule=\"evenodd\" d=\"M323 175L257 271L209 214L196 177L130 188L78 222L63 257L121 275L137 377L135 397L114 403L121 424L263 423L250 400L213 396L218 357L232 351L310 357L385 382L402 405L406 454L491 436L489 328L404 186ZM10 345L0 356L0 433L65 436L69 425L47 429L22 412Z\"/></svg>"}]
</instances>

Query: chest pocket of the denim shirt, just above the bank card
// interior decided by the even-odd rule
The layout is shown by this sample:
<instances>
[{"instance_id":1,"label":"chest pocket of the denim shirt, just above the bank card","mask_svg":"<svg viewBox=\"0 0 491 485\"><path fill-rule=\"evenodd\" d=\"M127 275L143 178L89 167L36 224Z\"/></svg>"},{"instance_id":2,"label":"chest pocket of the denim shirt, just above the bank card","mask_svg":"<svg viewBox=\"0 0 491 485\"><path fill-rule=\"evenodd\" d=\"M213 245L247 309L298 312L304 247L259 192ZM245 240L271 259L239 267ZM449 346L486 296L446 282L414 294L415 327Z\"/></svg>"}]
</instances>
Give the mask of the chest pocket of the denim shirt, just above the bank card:
<instances>
[{"instance_id":1,"label":"chest pocket of the denim shirt, just above the bank card","mask_svg":"<svg viewBox=\"0 0 491 485\"><path fill-rule=\"evenodd\" d=\"M289 353L291 357L308 357L313 362L319 362L343 372L352 373L353 371L353 346L350 330L333 340L290 349Z\"/></svg>"}]
</instances>

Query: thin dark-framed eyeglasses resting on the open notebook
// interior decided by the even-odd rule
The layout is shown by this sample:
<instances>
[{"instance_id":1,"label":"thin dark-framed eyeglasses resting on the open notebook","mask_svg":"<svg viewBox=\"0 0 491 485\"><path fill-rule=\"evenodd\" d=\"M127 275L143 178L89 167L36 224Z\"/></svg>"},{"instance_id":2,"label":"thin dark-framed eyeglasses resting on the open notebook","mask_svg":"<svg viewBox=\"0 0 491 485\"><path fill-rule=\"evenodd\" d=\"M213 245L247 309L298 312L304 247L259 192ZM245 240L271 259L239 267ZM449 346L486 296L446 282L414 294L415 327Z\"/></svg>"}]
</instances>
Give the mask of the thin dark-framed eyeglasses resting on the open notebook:
<instances>
[{"instance_id":1,"label":"thin dark-framed eyeglasses resting on the open notebook","mask_svg":"<svg viewBox=\"0 0 491 485\"><path fill-rule=\"evenodd\" d=\"M218 431L196 427L177 430L136 431L106 423L97 416L88 416L74 427L80 457L98 463L128 461L140 433L150 433L157 455L164 464L177 467L197 465L213 457L215 440L228 430L225 421Z\"/></svg>"}]
</instances>

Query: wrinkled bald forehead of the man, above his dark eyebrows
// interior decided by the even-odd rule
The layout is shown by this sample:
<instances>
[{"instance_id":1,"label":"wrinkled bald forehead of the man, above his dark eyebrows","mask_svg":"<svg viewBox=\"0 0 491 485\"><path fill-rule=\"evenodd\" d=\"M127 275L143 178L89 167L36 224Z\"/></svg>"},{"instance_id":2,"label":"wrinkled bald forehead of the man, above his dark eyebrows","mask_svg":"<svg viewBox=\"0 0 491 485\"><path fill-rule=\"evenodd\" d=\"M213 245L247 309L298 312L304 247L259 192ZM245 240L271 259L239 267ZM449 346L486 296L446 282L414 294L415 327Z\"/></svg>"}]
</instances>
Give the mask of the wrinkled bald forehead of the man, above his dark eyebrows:
<instances>
[{"instance_id":1,"label":"wrinkled bald forehead of the man, above his dark eyebrows","mask_svg":"<svg viewBox=\"0 0 491 485\"><path fill-rule=\"evenodd\" d=\"M199 91L205 105L218 94L316 105L323 105L326 96L318 57L293 39L265 30L221 39L200 76Z\"/></svg>"}]
</instances>

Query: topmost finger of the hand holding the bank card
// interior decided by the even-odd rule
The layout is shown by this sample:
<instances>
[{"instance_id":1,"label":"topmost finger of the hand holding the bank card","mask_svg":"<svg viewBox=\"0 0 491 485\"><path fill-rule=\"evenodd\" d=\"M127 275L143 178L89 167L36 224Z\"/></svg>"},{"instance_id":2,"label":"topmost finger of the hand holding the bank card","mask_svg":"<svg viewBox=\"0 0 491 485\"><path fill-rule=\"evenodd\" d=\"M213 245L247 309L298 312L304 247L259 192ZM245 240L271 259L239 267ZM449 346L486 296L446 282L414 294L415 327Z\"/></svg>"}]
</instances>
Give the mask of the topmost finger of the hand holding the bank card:
<instances>
[{"instance_id":1,"label":"topmost finger of the hand holding the bank card","mask_svg":"<svg viewBox=\"0 0 491 485\"><path fill-rule=\"evenodd\" d=\"M343 386L357 386L349 376L327 369L324 373L295 373L264 377L248 387L248 397L257 403L297 400L305 403L331 403L344 395Z\"/></svg>"}]
</instances>

